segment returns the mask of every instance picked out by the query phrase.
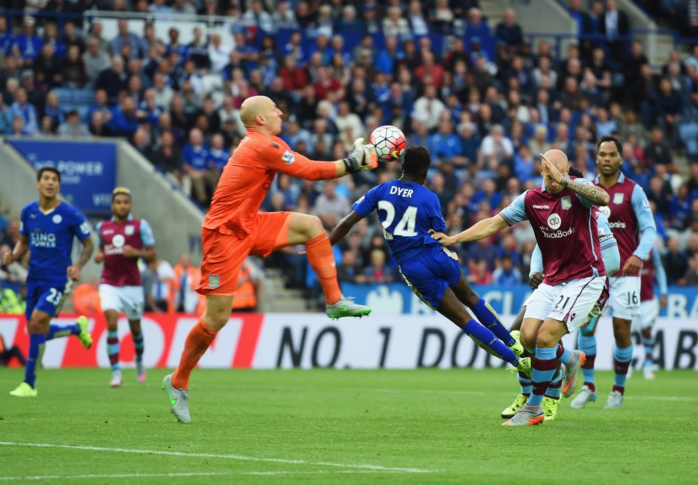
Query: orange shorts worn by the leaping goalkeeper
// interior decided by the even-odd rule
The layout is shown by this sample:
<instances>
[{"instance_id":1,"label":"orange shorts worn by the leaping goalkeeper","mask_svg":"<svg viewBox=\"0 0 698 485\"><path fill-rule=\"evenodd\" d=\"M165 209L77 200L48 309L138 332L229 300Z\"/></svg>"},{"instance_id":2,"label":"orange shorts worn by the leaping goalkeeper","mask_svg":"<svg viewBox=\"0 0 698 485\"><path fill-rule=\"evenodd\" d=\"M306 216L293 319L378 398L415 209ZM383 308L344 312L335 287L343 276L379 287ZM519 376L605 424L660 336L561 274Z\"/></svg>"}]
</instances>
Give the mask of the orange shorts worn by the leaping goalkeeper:
<instances>
[{"instance_id":1,"label":"orange shorts worn by the leaping goalkeeper","mask_svg":"<svg viewBox=\"0 0 698 485\"><path fill-rule=\"evenodd\" d=\"M242 263L248 255L264 256L288 246L288 223L291 212L260 212L253 230L239 239L204 227L201 246L201 281L196 291L201 294L229 297L237 290Z\"/></svg>"}]
</instances>

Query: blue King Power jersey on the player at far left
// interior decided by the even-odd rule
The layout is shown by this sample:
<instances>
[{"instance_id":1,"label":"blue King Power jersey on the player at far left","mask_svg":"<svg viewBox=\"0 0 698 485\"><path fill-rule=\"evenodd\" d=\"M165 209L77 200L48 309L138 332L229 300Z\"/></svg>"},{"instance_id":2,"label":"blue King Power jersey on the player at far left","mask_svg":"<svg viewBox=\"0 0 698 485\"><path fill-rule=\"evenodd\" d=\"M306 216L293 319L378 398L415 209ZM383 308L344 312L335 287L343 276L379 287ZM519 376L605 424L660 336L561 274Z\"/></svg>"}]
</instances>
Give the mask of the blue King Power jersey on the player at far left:
<instances>
[{"instance_id":1,"label":"blue King Power jersey on the player at far left","mask_svg":"<svg viewBox=\"0 0 698 485\"><path fill-rule=\"evenodd\" d=\"M38 202L22 209L20 232L29 239L29 278L60 278L73 264L70 251L73 237L80 241L90 237L84 216L75 207L61 202L45 214Z\"/></svg>"}]
</instances>

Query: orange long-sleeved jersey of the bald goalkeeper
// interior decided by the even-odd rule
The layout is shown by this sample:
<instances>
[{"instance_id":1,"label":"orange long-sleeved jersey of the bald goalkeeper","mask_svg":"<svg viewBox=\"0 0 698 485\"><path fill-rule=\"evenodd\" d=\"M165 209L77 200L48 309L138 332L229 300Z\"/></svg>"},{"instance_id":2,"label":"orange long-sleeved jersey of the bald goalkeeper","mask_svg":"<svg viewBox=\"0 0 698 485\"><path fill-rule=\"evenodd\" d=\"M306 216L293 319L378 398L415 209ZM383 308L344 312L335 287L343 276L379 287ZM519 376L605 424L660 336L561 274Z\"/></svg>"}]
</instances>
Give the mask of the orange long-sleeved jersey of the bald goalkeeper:
<instances>
[{"instance_id":1,"label":"orange long-sleeved jersey of the bald goalkeeper","mask_svg":"<svg viewBox=\"0 0 698 485\"><path fill-rule=\"evenodd\" d=\"M246 237L276 172L307 180L336 177L334 162L311 161L292 151L281 138L247 130L223 168L203 227Z\"/></svg>"}]
</instances>

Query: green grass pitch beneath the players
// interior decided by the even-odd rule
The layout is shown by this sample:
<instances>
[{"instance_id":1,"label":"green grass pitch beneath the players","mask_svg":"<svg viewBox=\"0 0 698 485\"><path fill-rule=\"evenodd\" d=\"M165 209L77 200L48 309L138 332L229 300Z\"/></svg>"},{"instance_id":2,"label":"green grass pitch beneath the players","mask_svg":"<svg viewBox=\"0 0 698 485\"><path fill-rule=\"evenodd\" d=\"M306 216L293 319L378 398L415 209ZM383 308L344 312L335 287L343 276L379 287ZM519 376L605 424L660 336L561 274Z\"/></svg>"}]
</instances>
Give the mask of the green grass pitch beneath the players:
<instances>
[{"instance_id":1,"label":"green grass pitch beneath the players","mask_svg":"<svg viewBox=\"0 0 698 485\"><path fill-rule=\"evenodd\" d=\"M698 460L696 373L658 373L628 382L625 408L584 410L563 401L558 419L530 428L500 426L516 379L485 371L196 370L193 423L178 424L160 389L124 371L110 389L105 370L45 370L38 398L6 394L21 380L0 369L0 441L215 456L0 445L3 477L59 475L50 483L695 483ZM254 460L281 458L303 463ZM323 464L325 463L325 464ZM377 465L406 470L381 470ZM270 472L284 472L272 475ZM189 477L111 475L199 473ZM221 475L214 475L221 474ZM260 475L265 474L265 475ZM72 475L105 475L84 479ZM19 481L20 478L17 478Z\"/></svg>"}]
</instances>

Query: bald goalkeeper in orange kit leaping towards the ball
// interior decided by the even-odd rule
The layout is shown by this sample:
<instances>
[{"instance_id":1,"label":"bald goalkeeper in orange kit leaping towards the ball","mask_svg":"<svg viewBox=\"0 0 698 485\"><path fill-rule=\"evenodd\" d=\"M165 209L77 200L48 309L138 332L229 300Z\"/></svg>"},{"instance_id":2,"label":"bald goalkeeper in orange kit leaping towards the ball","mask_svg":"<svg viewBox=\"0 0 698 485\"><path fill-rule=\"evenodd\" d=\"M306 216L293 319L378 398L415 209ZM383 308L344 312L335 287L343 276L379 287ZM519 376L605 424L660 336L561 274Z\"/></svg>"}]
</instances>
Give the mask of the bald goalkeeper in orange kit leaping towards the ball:
<instances>
[{"instance_id":1,"label":"bald goalkeeper in orange kit leaping towards the ball","mask_svg":"<svg viewBox=\"0 0 698 485\"><path fill-rule=\"evenodd\" d=\"M179 366L165 376L163 389L172 413L183 423L191 421L188 408L189 375L218 330L228 322L242 262L248 255L267 256L286 246L305 244L311 267L325 293L329 318L360 317L371 308L343 297L325 229L316 216L295 212L259 212L276 172L307 180L330 180L378 166L376 151L359 138L347 158L334 162L311 161L292 151L276 135L281 115L266 96L247 98L240 117L247 133L223 168L202 227L201 281L196 290L206 295L204 315L184 343Z\"/></svg>"}]
</instances>

